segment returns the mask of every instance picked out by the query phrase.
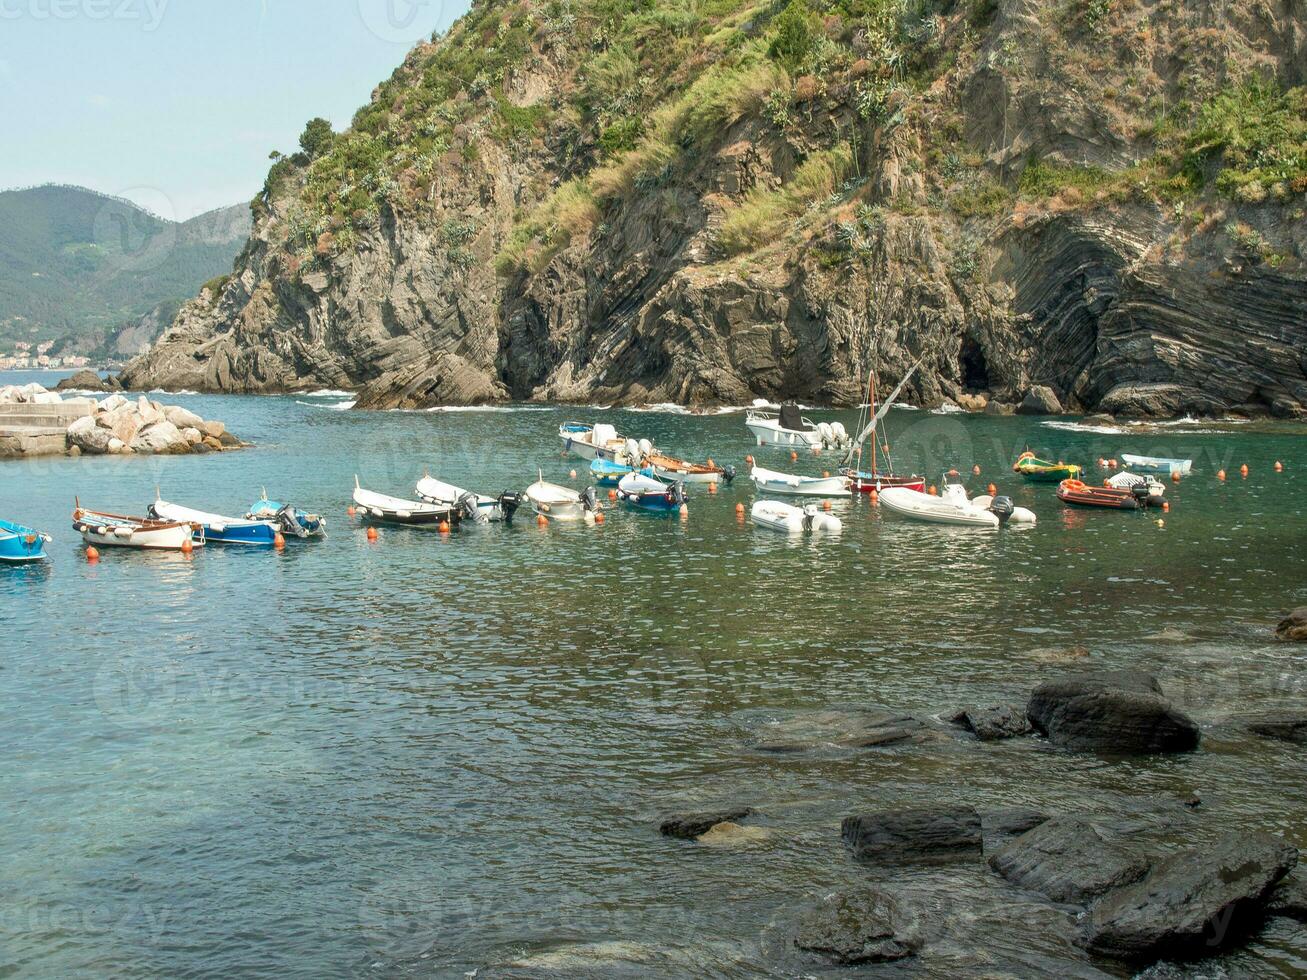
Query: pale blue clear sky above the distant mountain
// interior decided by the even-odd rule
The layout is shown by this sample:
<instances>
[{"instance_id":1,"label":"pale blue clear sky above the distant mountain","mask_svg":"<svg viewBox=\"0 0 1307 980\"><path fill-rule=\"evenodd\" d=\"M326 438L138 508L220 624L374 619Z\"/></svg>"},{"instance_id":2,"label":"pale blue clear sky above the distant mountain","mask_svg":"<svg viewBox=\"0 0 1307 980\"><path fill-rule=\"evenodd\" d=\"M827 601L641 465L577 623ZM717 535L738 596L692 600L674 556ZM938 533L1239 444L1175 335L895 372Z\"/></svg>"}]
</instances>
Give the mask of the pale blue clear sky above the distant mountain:
<instances>
[{"instance_id":1,"label":"pale blue clear sky above the distant mountain","mask_svg":"<svg viewBox=\"0 0 1307 980\"><path fill-rule=\"evenodd\" d=\"M336 128L467 0L0 0L0 189L69 183L184 220Z\"/></svg>"}]
</instances>

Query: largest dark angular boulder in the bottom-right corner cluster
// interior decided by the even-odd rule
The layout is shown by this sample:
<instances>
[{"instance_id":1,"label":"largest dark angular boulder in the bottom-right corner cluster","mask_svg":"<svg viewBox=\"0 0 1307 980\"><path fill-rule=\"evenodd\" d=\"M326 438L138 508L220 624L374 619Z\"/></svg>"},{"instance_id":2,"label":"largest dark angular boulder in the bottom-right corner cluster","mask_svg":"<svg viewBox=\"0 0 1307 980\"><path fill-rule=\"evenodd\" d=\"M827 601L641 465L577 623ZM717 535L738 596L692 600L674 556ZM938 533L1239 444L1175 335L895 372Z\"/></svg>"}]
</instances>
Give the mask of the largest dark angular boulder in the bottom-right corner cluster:
<instances>
[{"instance_id":1,"label":"largest dark angular boulder in the bottom-right corner cluster","mask_svg":"<svg viewBox=\"0 0 1307 980\"><path fill-rule=\"evenodd\" d=\"M1297 848L1249 831L1183 851L1104 896L1078 942L1131 960L1209 955L1261 921L1276 883L1295 864Z\"/></svg>"}]
</instances>

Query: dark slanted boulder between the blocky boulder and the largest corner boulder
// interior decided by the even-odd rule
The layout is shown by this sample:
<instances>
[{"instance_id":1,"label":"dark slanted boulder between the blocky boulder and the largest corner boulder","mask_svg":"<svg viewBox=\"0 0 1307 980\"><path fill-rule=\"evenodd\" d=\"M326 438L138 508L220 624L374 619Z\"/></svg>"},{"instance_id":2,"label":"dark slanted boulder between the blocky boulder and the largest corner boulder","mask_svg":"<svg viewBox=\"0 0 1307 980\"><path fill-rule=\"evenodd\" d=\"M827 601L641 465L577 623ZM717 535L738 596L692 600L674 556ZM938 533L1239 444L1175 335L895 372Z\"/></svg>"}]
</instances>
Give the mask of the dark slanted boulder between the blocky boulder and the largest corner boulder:
<instances>
[{"instance_id":1,"label":"dark slanted boulder between the blocky boulder and the largest corner boulder","mask_svg":"<svg viewBox=\"0 0 1307 980\"><path fill-rule=\"evenodd\" d=\"M1013 885L1053 902L1089 902L1137 882L1149 862L1082 819L1053 817L995 852L989 866Z\"/></svg>"}]
</instances>

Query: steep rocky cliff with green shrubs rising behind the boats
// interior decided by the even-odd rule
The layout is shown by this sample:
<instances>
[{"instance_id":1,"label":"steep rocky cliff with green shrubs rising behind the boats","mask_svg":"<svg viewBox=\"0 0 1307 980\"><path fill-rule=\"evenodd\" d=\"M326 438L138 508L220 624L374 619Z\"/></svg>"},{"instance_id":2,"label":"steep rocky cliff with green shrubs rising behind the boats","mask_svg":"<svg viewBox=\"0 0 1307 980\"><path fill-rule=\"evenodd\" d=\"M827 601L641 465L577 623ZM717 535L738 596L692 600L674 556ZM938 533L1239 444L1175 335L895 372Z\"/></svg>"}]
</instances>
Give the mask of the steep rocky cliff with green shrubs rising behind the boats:
<instances>
[{"instance_id":1,"label":"steep rocky cliff with green shrubs rising behind the boats","mask_svg":"<svg viewBox=\"0 0 1307 980\"><path fill-rule=\"evenodd\" d=\"M482 0L132 387L1307 406L1300 0Z\"/></svg>"}]
</instances>

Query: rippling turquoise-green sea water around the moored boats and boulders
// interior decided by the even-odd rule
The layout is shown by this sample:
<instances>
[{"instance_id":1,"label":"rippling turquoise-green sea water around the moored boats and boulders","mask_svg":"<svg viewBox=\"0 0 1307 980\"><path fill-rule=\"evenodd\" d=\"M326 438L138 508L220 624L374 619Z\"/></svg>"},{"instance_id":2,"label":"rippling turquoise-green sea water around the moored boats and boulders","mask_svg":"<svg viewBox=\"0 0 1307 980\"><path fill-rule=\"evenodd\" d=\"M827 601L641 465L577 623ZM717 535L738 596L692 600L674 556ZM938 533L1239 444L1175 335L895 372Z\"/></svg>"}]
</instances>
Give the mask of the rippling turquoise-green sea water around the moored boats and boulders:
<instances>
[{"instance_id":1,"label":"rippling turquoise-green sea water around the moored boats and boulders","mask_svg":"<svg viewBox=\"0 0 1307 980\"><path fill-rule=\"evenodd\" d=\"M541 529L524 514L369 542L345 514L356 473L399 495L425 468L482 493L537 469L567 483L587 464L559 456L566 418L694 459L791 464L754 448L738 413L163 400L256 448L0 466L0 516L55 536L48 567L0 575L0 973L789 976L774 924L872 877L839 821L881 805L1134 811L1196 791L1204 817L1172 840L1261 827L1307 847L1302 750L1222 728L1307 690L1307 651L1269 639L1307 602L1300 427L893 412L901 469L937 482L979 465L974 490L992 480L1039 515L1002 533L855 500L835 504L840 536L788 538L737 519L753 499L741 477L691 490L684 521L617 511ZM1072 511L1010 473L1027 444L1086 463L1192 456L1195 474L1168 486L1165 515ZM156 486L234 514L267 487L327 514L329 537L86 563L73 495L139 512ZM752 747L814 712L1019 699L1084 665L1157 672L1204 749L1107 762L1026 740ZM731 801L759 810L766 841L656 832L663 813ZM979 862L893 882L940 907L929 975L1114 970L1051 924L1065 912ZM1277 920L1221 966L1300 975L1307 937Z\"/></svg>"}]
</instances>

